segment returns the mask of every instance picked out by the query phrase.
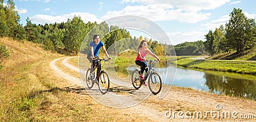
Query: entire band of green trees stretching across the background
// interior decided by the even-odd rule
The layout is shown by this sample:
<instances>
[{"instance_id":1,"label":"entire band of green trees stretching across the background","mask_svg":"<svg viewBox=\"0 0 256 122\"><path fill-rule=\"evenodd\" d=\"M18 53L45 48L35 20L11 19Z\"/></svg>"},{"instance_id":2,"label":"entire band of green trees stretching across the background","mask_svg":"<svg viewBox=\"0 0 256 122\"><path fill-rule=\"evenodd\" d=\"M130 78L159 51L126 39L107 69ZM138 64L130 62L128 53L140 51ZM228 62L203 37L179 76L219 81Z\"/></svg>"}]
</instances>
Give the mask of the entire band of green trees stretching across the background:
<instances>
[{"instance_id":1,"label":"entire band of green trees stretching across the background","mask_svg":"<svg viewBox=\"0 0 256 122\"><path fill-rule=\"evenodd\" d=\"M77 55L79 52L88 50L88 42L92 41L93 34L103 35L101 41L106 49L115 43L113 54L122 50L136 49L141 40L147 40L148 46L159 56L202 56L219 54L222 52L234 52L243 54L248 50L255 49L256 24L254 19L248 19L242 10L234 8L230 13L230 20L225 26L221 25L215 31L209 30L205 34L206 41L184 42L178 45L158 43L152 38L132 37L129 31L110 26L106 22L83 22L81 17L73 17L67 22L54 24L33 24L29 18L26 26L19 24L20 17L15 11L15 3L8 0L7 4L0 4L0 37L10 37L15 40L28 40L41 43L45 50L60 54ZM87 40L87 43L83 43ZM83 43L83 45L82 45ZM4 45L0 44L1 59L8 57ZM173 51L173 47L175 51ZM80 50L83 49L83 50ZM5 54L4 54L5 53Z\"/></svg>"}]
</instances>

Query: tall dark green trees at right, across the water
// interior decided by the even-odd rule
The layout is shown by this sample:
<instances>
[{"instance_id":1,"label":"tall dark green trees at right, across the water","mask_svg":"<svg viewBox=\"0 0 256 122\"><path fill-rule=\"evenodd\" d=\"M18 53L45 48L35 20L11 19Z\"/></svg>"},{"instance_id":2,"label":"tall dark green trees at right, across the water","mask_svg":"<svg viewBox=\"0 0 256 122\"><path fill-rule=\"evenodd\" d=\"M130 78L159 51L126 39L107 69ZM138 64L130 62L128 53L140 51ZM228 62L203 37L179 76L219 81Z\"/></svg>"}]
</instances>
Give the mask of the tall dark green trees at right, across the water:
<instances>
[{"instance_id":1,"label":"tall dark green trees at right, across the water","mask_svg":"<svg viewBox=\"0 0 256 122\"><path fill-rule=\"evenodd\" d=\"M221 25L215 31L205 34L205 51L211 56L220 52L236 51L243 54L255 48L255 19L248 19L241 9L234 8L225 27Z\"/></svg>"}]
</instances>

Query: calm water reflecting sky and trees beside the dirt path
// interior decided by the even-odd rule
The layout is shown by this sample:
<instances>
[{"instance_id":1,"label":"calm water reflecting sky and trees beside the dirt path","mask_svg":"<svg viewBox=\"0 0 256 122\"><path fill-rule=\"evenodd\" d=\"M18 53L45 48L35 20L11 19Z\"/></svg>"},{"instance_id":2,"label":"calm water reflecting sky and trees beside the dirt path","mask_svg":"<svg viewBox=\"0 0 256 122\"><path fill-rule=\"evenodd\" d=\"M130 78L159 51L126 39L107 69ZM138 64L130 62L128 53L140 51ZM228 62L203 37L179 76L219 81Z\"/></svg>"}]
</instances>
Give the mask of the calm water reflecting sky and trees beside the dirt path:
<instances>
[{"instance_id":1,"label":"calm water reflecting sky and trees beside the dirt path","mask_svg":"<svg viewBox=\"0 0 256 122\"><path fill-rule=\"evenodd\" d=\"M127 68L129 65L131 65L131 63L115 66L115 71L124 73L128 76L129 72L134 70L134 67ZM256 77L253 75L244 76L237 73L227 72L203 72L186 68L177 68L172 65L169 67L167 66L167 63L160 63L159 65L153 66L161 77L166 76L166 71L171 72L171 74L177 71L175 82L173 83L173 78L166 77L166 82L164 82L164 84L173 83L172 85L174 86L209 91L220 95L239 96L252 100L255 100L256 98ZM250 78L248 79L248 77Z\"/></svg>"}]
</instances>

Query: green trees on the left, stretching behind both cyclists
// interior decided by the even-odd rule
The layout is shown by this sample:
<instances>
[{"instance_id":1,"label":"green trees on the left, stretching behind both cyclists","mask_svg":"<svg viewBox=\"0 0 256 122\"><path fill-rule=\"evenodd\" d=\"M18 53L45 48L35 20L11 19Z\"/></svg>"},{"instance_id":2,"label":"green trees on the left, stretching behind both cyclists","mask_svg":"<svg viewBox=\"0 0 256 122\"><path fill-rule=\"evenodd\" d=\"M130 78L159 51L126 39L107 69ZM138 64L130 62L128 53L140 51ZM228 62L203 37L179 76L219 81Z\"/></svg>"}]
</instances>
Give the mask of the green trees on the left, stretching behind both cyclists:
<instances>
[{"instance_id":1,"label":"green trees on the left, stretching behind both cyclists","mask_svg":"<svg viewBox=\"0 0 256 122\"><path fill-rule=\"evenodd\" d=\"M131 38L126 29L118 26L110 26L106 22L83 22L81 17L73 17L67 22L54 24L33 24L29 18L26 26L19 24L20 17L15 11L13 0L8 0L4 6L1 0L0 36L8 36L15 40L28 40L34 43L42 43L45 50L59 52L61 54L77 55L79 51L88 51L88 45L93 40L93 34L99 34L106 49L113 48L113 54L126 49L136 49L141 39ZM152 49L159 55L163 55L163 48L156 41L151 41ZM113 45L114 44L114 45Z\"/></svg>"}]
</instances>

